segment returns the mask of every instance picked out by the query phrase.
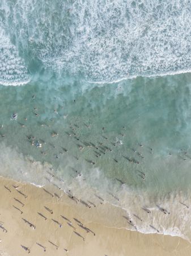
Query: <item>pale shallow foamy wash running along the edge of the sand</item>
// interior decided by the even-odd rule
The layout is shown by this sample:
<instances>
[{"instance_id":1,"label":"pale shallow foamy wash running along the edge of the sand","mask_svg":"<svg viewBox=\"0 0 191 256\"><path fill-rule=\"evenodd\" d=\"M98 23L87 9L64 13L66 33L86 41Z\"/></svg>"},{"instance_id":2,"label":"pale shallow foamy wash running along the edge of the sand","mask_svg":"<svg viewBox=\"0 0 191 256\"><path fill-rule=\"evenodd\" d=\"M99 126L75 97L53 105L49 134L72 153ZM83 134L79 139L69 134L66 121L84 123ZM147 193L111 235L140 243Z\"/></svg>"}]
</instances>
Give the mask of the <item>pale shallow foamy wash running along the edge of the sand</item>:
<instances>
[{"instance_id":1,"label":"pale shallow foamy wash running along the edge of the sand","mask_svg":"<svg viewBox=\"0 0 191 256\"><path fill-rule=\"evenodd\" d=\"M66 166L64 170L54 172L50 165L34 162L30 158L19 154L15 149L6 147L5 144L0 144L0 151L0 175L2 176L28 182L37 187L52 183L65 192L70 189L72 195L78 199L86 202L92 201L96 205L99 205L100 202L103 204L109 203L119 209L126 210L126 216L136 226L136 229L127 224L125 218L124 224L122 224L124 228L137 230L141 233L157 233L156 230L159 230L160 234L180 236L191 241L190 209L186 207L186 205L191 205L189 193L185 197L185 193L175 191L171 195L153 199L152 195L149 195L146 191L132 191L127 185L118 187L116 183L108 180L99 168L88 168L85 163L82 164L83 174L69 179L67 177L67 168L73 166L72 158L70 157L65 160ZM45 177L48 179L45 179ZM60 177L60 180L56 177ZM96 195L103 198L104 201ZM164 214L157 205L167 209L170 214ZM107 205L105 207L107 212ZM146 213L142 207L147 207L151 210L151 213ZM142 221L135 217L135 214ZM117 215L116 218L123 220L123 216Z\"/></svg>"}]
</instances>

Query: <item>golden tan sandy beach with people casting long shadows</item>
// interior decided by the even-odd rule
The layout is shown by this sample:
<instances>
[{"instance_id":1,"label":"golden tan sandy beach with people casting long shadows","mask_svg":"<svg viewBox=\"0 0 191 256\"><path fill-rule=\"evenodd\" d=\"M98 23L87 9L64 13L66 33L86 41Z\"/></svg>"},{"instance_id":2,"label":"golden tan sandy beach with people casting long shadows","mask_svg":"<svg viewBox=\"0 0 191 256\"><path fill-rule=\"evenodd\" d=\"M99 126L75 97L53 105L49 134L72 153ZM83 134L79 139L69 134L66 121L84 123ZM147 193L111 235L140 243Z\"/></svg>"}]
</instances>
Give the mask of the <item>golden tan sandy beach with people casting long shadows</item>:
<instances>
[{"instance_id":1,"label":"golden tan sandy beach with people casting long shadows","mask_svg":"<svg viewBox=\"0 0 191 256\"><path fill-rule=\"evenodd\" d=\"M1 256L190 255L191 244L182 238L122 228L129 225L122 209L99 201L88 208L54 187L0 181Z\"/></svg>"}]
</instances>

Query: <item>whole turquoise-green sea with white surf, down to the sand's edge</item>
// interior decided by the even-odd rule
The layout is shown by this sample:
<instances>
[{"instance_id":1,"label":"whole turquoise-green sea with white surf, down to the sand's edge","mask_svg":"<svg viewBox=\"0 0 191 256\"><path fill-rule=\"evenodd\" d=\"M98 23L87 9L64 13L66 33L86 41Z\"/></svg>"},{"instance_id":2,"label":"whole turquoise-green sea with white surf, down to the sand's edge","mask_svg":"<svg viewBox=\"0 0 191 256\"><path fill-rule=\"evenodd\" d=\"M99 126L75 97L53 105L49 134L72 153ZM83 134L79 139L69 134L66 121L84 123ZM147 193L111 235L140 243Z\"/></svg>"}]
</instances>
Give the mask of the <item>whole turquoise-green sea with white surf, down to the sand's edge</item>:
<instances>
[{"instance_id":1,"label":"whole turquoise-green sea with white surf, down to the sand's edge","mask_svg":"<svg viewBox=\"0 0 191 256\"><path fill-rule=\"evenodd\" d=\"M0 175L190 241L190 15L189 1L2 0Z\"/></svg>"}]
</instances>

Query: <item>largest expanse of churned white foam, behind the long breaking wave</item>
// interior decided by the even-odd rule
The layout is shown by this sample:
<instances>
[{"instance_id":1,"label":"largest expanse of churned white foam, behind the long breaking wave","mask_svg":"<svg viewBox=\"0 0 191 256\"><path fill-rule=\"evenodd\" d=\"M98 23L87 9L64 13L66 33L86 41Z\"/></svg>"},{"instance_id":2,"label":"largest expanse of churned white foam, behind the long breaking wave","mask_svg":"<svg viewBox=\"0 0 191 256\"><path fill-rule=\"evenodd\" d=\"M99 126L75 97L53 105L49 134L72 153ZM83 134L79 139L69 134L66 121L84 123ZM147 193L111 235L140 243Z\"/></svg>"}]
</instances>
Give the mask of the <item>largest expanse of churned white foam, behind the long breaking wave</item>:
<instances>
[{"instance_id":1,"label":"largest expanse of churned white foam, behind the long breaking wave","mask_svg":"<svg viewBox=\"0 0 191 256\"><path fill-rule=\"evenodd\" d=\"M80 72L92 82L190 72L188 0L16 0L12 5L2 0L0 6L7 34L57 72Z\"/></svg>"}]
</instances>

